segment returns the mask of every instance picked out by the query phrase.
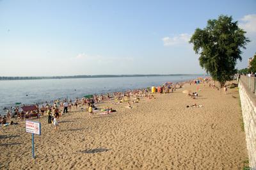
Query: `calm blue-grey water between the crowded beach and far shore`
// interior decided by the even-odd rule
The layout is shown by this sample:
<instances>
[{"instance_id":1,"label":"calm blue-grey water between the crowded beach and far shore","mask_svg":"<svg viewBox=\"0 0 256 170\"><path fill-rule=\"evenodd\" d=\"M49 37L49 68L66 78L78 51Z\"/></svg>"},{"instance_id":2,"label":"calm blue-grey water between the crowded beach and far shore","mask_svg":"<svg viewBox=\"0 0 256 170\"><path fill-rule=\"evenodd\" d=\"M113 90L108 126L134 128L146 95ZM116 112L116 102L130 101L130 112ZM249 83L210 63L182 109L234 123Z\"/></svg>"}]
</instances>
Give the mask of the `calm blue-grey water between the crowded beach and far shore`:
<instances>
[{"instance_id":1,"label":"calm blue-grey water between the crowded beach and far shore","mask_svg":"<svg viewBox=\"0 0 256 170\"><path fill-rule=\"evenodd\" d=\"M74 99L95 93L159 86L168 81L187 81L196 77L198 75L0 81L0 113L4 113L4 107L15 106L16 102L35 104L58 98Z\"/></svg>"}]
</instances>

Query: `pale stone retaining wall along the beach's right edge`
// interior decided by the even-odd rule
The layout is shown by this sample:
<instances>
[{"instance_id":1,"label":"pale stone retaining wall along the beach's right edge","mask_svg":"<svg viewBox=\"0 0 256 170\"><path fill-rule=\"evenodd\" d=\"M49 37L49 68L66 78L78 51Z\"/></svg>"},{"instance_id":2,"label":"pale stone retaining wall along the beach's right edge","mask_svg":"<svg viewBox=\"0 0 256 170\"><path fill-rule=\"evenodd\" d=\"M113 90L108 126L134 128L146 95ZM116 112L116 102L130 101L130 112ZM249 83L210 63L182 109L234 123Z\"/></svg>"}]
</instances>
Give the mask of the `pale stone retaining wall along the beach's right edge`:
<instances>
[{"instance_id":1,"label":"pale stone retaining wall along the beach's right edge","mask_svg":"<svg viewBox=\"0 0 256 170\"><path fill-rule=\"evenodd\" d=\"M243 82L239 82L239 95L244 120L244 132L250 167L256 169L256 98Z\"/></svg>"}]
</instances>

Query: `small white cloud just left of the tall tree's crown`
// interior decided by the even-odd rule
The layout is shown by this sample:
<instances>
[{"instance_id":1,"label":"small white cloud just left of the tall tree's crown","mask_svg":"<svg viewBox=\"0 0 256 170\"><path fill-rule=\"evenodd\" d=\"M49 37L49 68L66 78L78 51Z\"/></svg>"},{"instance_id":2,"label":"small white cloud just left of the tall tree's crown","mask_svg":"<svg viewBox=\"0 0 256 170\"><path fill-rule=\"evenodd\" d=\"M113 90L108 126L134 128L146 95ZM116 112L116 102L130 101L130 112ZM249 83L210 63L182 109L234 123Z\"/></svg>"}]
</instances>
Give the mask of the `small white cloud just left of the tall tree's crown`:
<instances>
[{"instance_id":1,"label":"small white cloud just left of the tall tree's crown","mask_svg":"<svg viewBox=\"0 0 256 170\"><path fill-rule=\"evenodd\" d=\"M191 38L191 35L184 33L180 34L178 36L166 36L162 38L164 46L173 46L173 45L182 45L182 44L188 44L189 40Z\"/></svg>"}]
</instances>

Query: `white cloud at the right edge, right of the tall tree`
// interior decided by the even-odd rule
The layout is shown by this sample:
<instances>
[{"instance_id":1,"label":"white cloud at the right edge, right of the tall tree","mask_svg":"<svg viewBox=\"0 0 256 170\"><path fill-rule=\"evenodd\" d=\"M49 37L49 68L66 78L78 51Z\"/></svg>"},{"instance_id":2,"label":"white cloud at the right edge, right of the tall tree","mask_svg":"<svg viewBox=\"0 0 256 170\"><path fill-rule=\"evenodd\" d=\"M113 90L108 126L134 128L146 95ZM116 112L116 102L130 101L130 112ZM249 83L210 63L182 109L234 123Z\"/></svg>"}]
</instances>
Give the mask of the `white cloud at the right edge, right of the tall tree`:
<instances>
[{"instance_id":1,"label":"white cloud at the right edge, right of the tall tree","mask_svg":"<svg viewBox=\"0 0 256 170\"><path fill-rule=\"evenodd\" d=\"M239 26L248 34L256 34L256 14L244 15Z\"/></svg>"}]
</instances>

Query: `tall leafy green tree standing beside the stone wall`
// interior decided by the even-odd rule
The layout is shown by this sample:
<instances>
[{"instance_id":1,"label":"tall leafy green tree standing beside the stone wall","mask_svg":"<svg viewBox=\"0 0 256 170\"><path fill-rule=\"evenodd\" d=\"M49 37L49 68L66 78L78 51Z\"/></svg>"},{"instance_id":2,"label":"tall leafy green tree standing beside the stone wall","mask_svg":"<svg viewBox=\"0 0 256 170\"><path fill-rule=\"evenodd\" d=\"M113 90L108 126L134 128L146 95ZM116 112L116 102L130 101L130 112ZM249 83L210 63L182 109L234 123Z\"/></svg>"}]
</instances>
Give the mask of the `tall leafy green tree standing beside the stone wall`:
<instances>
[{"instance_id":1,"label":"tall leafy green tree standing beside the stone wall","mask_svg":"<svg viewBox=\"0 0 256 170\"><path fill-rule=\"evenodd\" d=\"M193 43L199 63L221 87L231 81L237 72L237 59L242 61L241 48L250 42L246 32L232 22L232 17L220 15L218 19L208 20L204 29L197 28L189 43Z\"/></svg>"}]
</instances>

